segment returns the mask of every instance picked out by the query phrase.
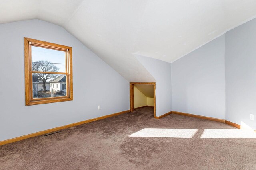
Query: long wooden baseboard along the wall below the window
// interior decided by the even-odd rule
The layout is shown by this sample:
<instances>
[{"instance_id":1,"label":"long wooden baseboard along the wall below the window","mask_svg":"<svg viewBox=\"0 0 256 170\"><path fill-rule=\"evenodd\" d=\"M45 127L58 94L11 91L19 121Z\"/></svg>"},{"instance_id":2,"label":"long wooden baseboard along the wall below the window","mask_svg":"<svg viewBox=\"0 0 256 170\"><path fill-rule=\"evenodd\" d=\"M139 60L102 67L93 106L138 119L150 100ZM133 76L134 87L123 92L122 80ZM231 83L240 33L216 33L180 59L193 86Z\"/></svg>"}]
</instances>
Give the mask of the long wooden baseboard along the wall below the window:
<instances>
[{"instance_id":1,"label":"long wooden baseboard along the wall below the window","mask_svg":"<svg viewBox=\"0 0 256 170\"><path fill-rule=\"evenodd\" d=\"M31 134L28 134L28 135L23 135L23 136L20 136L20 137L15 137L15 138L12 138L12 139L7 139L7 140L4 140L4 141L0 141L0 145L5 145L5 144L8 144L8 143L13 143L13 142L16 142L16 141L21 141L23 139L27 139L27 138L30 138L30 137L36 137L36 136L39 136L39 135L44 135L46 133L51 133L51 132L54 132L54 131L59 131L61 129L66 129L66 128L69 128L69 127L74 127L74 126L82 125L82 124L85 124L85 123L90 123L92 121L97 121L97 120L100 120L100 119L106 119L108 117L113 117L113 116L124 114L124 113L128 113L128 112L130 112L130 111L129 110L121 111L121 112L114 113L114 114L111 114L111 115L106 115L106 116L102 116L102 117L96 117L94 119L80 121L80 122L72 123L72 124L69 124L69 125L55 127L55 128L47 129L47 130L44 130L44 131L40 131L40 132L36 132L36 133L31 133Z\"/></svg>"}]
</instances>

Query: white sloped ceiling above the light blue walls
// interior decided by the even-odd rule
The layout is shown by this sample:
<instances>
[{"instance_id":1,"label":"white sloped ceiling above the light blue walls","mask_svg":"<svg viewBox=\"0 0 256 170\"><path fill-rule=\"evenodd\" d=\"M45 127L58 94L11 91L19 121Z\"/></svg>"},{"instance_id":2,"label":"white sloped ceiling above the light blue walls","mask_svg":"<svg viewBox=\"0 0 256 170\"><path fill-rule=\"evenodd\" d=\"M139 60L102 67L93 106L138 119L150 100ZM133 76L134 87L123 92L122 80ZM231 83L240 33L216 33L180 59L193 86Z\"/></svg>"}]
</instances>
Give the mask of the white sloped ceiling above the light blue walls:
<instances>
[{"instance_id":1,"label":"white sloped ceiling above the light blue walls","mask_svg":"<svg viewBox=\"0 0 256 170\"><path fill-rule=\"evenodd\" d=\"M134 54L173 62L256 16L256 0L0 0L0 23L60 25L129 81L154 81Z\"/></svg>"}]
</instances>

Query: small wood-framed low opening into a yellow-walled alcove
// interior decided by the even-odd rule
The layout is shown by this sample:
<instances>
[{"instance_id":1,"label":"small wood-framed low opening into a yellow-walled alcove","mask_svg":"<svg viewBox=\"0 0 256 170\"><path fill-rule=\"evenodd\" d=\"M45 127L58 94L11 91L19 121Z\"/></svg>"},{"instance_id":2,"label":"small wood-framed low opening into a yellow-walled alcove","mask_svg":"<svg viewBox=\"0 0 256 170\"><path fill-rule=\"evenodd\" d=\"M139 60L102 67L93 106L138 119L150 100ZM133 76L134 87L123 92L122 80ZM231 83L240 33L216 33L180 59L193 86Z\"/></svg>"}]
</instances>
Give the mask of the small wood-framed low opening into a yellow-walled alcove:
<instances>
[{"instance_id":1,"label":"small wood-framed low opening into a yellow-walled alcove","mask_svg":"<svg viewBox=\"0 0 256 170\"><path fill-rule=\"evenodd\" d=\"M154 107L154 118L156 118L155 82L130 82L130 112L142 107Z\"/></svg>"}]
</instances>

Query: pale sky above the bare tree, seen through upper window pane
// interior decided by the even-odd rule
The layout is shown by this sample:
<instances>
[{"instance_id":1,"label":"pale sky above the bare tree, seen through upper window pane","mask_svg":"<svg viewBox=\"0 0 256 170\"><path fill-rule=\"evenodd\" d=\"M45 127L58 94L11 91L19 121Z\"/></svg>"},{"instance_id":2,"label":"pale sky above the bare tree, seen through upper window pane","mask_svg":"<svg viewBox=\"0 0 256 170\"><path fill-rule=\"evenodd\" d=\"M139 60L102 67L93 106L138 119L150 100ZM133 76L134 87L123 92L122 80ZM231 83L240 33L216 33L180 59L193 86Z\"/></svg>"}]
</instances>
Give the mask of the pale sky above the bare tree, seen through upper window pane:
<instances>
[{"instance_id":1,"label":"pale sky above the bare tree, seen through upper window pane","mask_svg":"<svg viewBox=\"0 0 256 170\"><path fill-rule=\"evenodd\" d=\"M36 63L39 61L48 61L48 63L54 64L54 66L58 67L58 72L65 72L65 52L46 49L42 47L31 46L32 51L32 63Z\"/></svg>"}]
</instances>

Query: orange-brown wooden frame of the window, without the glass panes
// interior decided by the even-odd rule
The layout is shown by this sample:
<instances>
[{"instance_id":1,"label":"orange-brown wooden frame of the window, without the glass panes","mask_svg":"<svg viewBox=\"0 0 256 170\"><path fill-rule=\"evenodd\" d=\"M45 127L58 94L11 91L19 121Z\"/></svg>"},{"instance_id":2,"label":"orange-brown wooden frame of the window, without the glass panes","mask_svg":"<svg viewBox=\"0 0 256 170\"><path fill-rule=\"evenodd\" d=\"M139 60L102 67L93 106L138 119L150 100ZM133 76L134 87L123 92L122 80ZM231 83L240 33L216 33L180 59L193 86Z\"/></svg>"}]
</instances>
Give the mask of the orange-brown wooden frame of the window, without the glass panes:
<instances>
[{"instance_id":1,"label":"orange-brown wooden frame of the window, without the glass panes","mask_svg":"<svg viewBox=\"0 0 256 170\"><path fill-rule=\"evenodd\" d=\"M37 72L32 71L31 46L47 49L65 51L66 53L66 72ZM72 47L40 41L24 37L24 56L25 56L25 105L46 104L54 102L64 102L73 100L73 74L72 74ZM52 98L33 98L32 73L66 74L66 96Z\"/></svg>"}]
</instances>

